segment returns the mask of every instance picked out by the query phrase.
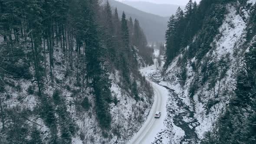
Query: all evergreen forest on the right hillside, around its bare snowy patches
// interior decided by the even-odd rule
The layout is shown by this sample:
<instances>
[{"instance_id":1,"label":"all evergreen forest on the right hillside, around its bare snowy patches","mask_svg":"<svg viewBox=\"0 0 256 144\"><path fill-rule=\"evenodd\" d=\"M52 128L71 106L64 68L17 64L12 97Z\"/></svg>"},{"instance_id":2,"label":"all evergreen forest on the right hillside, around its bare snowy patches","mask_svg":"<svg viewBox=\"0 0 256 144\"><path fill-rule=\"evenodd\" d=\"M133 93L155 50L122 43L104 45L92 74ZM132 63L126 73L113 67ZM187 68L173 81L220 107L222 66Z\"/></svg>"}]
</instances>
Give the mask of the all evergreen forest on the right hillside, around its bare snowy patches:
<instances>
[{"instance_id":1,"label":"all evergreen forest on the right hillside, around its bare snowy patches","mask_svg":"<svg viewBox=\"0 0 256 144\"><path fill-rule=\"evenodd\" d=\"M217 34L221 36L218 29L223 23L227 9L231 6L227 6L228 3L234 3L237 13L240 14L243 13L240 7L248 8L247 0L201 0L199 4L190 0L185 12L178 8L168 22L164 68L167 69L171 62L177 60L177 65L181 68L178 77L181 86L184 86L188 79L187 65L191 65L194 76L189 88L191 101L194 102L194 95L199 89L206 87L207 91L213 90L214 98L206 104L207 111L210 111L210 108L220 102L218 100L220 96L230 95L220 92L221 80L225 80L226 72L230 69L230 59L242 58L241 62L244 65L239 65L237 68L239 71L235 75L236 89L233 89L234 95L231 96L230 104L226 104L226 110L221 114L213 131L205 134L202 143L254 144L256 143L256 6L251 6L252 8L249 9L251 13L249 21L246 21L248 23L246 38L240 49L236 50L233 56L226 54L216 59L217 56L212 55L212 51L216 49L213 39ZM248 47L246 51L245 48ZM207 56L207 53L210 56Z\"/></svg>"}]
</instances>

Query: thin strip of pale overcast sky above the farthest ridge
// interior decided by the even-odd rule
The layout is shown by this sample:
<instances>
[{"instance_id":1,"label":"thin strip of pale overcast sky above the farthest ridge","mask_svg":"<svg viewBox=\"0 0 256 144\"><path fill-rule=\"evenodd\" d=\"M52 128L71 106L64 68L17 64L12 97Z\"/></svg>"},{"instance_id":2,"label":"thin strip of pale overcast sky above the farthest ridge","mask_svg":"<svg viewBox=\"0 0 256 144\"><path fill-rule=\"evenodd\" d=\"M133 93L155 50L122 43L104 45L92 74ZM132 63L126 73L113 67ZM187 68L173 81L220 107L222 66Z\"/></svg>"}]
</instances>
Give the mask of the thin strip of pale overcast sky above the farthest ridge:
<instances>
[{"instance_id":1,"label":"thin strip of pale overcast sky above the farthest ridge","mask_svg":"<svg viewBox=\"0 0 256 144\"><path fill-rule=\"evenodd\" d=\"M125 1L125 0L118 0L118 1ZM151 3L167 3L167 4L176 4L176 5L186 5L189 0L126 0L126 1L147 1ZM200 0L193 0L197 1L198 3Z\"/></svg>"}]
</instances>

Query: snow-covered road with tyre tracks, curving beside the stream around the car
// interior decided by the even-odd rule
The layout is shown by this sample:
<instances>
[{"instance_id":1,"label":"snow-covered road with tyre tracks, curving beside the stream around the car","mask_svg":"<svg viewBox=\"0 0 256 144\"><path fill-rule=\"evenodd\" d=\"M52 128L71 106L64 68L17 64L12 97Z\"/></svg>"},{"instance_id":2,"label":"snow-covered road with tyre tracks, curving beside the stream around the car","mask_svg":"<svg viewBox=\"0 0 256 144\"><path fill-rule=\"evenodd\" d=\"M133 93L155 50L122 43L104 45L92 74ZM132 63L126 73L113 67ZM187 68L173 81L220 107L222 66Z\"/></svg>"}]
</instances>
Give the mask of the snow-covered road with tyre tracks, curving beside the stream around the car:
<instances>
[{"instance_id":1,"label":"snow-covered road with tyre tracks, curving beside the stream around the car","mask_svg":"<svg viewBox=\"0 0 256 144\"><path fill-rule=\"evenodd\" d=\"M164 129L164 119L166 117L166 102L168 91L161 85L152 82L154 88L154 103L151 107L147 120L141 129L135 134L129 144L151 144L158 132ZM161 118L154 118L156 111L161 111Z\"/></svg>"}]
</instances>

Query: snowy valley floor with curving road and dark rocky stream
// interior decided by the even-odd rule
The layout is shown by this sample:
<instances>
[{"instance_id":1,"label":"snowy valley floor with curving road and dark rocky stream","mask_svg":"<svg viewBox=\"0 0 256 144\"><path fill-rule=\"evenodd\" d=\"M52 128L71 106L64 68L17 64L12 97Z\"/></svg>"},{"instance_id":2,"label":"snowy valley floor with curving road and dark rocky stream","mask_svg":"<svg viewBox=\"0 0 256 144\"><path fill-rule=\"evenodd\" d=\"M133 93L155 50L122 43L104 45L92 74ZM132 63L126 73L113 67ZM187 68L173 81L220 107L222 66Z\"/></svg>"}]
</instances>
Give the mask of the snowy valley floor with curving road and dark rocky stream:
<instances>
[{"instance_id":1,"label":"snowy valley floor with curving road and dark rocky stream","mask_svg":"<svg viewBox=\"0 0 256 144\"><path fill-rule=\"evenodd\" d=\"M157 52L156 52L157 53ZM156 60L155 60L156 63ZM159 84L160 70L156 65L141 69L152 83L155 92L154 104L137 134L129 144L186 144L199 143L195 128L199 125L194 111L175 93L175 90ZM154 113L161 111L160 119Z\"/></svg>"}]
</instances>

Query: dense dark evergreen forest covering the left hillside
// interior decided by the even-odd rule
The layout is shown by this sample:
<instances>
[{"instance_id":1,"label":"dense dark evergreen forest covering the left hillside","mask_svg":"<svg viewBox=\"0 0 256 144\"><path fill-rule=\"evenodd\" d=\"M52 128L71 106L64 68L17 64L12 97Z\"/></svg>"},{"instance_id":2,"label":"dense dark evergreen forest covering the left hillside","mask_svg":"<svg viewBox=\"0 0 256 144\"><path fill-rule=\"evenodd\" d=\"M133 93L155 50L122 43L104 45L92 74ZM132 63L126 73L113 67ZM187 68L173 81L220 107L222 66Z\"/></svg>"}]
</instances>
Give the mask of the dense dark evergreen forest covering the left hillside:
<instances>
[{"instance_id":1,"label":"dense dark evergreen forest covering the left hillside","mask_svg":"<svg viewBox=\"0 0 256 144\"><path fill-rule=\"evenodd\" d=\"M108 1L102 5L98 0L0 0L0 143L44 143L35 128L40 124L30 120L33 116L50 128L49 143L71 143L79 129L60 96L63 89L75 99L69 106L81 111L92 107L86 95L92 96L98 124L108 131L109 105L118 103L110 75L118 72L120 87L136 101L143 101L138 82L152 96L150 84L138 71L139 59L153 64L153 49L147 44L139 21L127 20L125 12L120 20ZM59 78L61 73L65 79ZM9 86L22 91L22 83L15 81L31 82L19 101L35 95L36 108L2 105L12 97Z\"/></svg>"}]
</instances>

